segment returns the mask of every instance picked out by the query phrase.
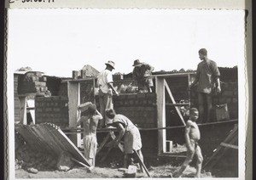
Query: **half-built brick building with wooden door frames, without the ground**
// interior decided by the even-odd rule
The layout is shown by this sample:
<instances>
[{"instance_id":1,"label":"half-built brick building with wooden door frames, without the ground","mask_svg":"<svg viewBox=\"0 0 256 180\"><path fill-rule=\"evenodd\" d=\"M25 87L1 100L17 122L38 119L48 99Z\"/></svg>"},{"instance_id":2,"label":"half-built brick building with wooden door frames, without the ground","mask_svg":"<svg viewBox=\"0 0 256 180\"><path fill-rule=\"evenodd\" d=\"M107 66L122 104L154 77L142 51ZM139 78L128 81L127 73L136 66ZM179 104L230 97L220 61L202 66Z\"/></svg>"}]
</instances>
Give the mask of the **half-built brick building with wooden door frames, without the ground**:
<instances>
[{"instance_id":1,"label":"half-built brick building with wooden door frames, without the ground","mask_svg":"<svg viewBox=\"0 0 256 180\"><path fill-rule=\"evenodd\" d=\"M231 168L238 176L238 82L237 68L219 68L222 93L213 95L212 120L199 124L203 169L217 165ZM96 87L97 71L73 70L72 78L46 76L38 71L15 72L15 132L35 151L70 154L84 166L90 163L83 155L83 129L76 127L77 108L85 102L99 108ZM113 87L120 95L113 96L117 114L127 116L137 124L143 141L145 165L157 158L183 158L186 110L198 107L195 89L188 91L195 71L154 72L153 93L137 93L137 82L131 74L113 75ZM86 112L84 112L86 113ZM109 157L121 156L122 149L105 146L115 136L114 129L97 130L97 163ZM17 150L17 149L16 149ZM109 153L108 153L109 151ZM22 152L21 152L22 153Z\"/></svg>"}]
</instances>

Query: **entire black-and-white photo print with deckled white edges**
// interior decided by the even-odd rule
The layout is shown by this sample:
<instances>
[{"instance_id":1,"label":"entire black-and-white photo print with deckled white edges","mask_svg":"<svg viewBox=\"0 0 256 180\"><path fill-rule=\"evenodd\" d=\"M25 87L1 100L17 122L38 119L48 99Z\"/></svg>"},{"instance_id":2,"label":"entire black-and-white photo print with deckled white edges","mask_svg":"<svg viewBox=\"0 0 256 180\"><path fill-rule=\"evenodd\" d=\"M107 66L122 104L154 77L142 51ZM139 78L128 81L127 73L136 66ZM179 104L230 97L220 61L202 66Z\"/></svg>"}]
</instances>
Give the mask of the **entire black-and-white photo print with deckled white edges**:
<instances>
[{"instance_id":1,"label":"entire black-and-white photo print with deckled white edges","mask_svg":"<svg viewBox=\"0 0 256 180\"><path fill-rule=\"evenodd\" d=\"M245 10L7 17L9 179L245 179Z\"/></svg>"}]
</instances>

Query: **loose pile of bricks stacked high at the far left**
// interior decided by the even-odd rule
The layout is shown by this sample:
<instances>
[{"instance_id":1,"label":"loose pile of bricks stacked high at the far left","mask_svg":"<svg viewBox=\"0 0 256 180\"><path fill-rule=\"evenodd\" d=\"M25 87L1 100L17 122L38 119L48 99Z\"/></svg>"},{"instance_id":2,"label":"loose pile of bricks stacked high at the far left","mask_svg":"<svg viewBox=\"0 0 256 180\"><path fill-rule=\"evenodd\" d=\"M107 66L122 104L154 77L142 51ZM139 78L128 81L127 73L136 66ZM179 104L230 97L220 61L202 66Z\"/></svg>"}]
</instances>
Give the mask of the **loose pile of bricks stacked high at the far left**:
<instances>
[{"instance_id":1,"label":"loose pile of bricks stacked high at the far left","mask_svg":"<svg viewBox=\"0 0 256 180\"><path fill-rule=\"evenodd\" d=\"M35 93L43 95L47 92L47 78L42 75L42 72L29 71L25 75L19 76L18 93Z\"/></svg>"}]
</instances>

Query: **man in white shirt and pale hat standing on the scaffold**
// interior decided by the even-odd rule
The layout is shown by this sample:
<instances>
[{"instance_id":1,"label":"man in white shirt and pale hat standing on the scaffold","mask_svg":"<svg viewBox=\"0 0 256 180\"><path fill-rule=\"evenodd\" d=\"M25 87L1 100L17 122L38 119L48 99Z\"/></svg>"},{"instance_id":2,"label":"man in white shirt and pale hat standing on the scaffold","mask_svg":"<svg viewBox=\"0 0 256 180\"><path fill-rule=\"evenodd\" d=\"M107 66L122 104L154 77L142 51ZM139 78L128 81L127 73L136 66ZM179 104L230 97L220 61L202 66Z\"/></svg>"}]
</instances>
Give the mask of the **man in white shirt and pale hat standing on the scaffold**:
<instances>
[{"instance_id":1,"label":"man in white shirt and pale hat standing on the scaffold","mask_svg":"<svg viewBox=\"0 0 256 180\"><path fill-rule=\"evenodd\" d=\"M106 69L102 70L97 78L97 85L99 87L99 103L100 112L104 118L104 121L100 121L99 127L104 127L108 122L108 117L105 115L105 110L113 109L113 93L119 95L119 93L113 88L113 75L114 62L109 60L105 63Z\"/></svg>"}]
</instances>

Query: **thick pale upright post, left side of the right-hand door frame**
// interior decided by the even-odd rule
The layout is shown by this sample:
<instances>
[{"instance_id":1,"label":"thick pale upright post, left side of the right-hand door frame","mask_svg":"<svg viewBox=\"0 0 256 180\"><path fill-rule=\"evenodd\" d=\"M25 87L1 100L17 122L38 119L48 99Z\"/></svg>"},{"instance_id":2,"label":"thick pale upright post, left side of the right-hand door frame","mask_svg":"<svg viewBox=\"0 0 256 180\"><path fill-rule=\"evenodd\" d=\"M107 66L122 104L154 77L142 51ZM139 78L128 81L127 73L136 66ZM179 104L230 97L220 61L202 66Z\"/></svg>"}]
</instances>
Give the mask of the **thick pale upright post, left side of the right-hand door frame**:
<instances>
[{"instance_id":1,"label":"thick pale upright post, left side of the right-hand door frame","mask_svg":"<svg viewBox=\"0 0 256 180\"><path fill-rule=\"evenodd\" d=\"M157 104L157 127L166 127L166 94L164 78L155 78L156 104ZM166 129L158 131L158 154L166 151Z\"/></svg>"}]
</instances>

